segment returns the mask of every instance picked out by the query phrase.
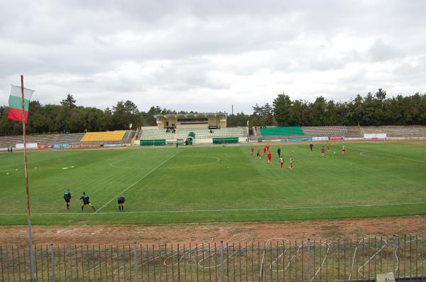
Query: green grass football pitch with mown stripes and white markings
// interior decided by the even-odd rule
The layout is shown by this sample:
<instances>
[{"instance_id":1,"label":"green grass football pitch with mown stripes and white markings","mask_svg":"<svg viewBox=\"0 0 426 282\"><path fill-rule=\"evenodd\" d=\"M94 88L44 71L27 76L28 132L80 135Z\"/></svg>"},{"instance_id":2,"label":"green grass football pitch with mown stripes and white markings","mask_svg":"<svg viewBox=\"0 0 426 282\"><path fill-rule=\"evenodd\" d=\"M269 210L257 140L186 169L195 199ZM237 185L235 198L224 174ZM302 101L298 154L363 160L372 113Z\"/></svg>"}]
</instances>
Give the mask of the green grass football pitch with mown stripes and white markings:
<instances>
[{"instance_id":1,"label":"green grass football pitch with mown stripes and white markings","mask_svg":"<svg viewBox=\"0 0 426 282\"><path fill-rule=\"evenodd\" d=\"M426 143L277 145L28 153L33 224L261 222L426 214ZM255 148L261 148L257 145ZM263 148L263 147L262 147ZM289 156L295 158L288 169ZM0 153L0 224L26 224L23 153ZM63 192L70 188L66 212ZM96 212L78 200L85 191ZM119 212L117 197L126 197Z\"/></svg>"}]
</instances>

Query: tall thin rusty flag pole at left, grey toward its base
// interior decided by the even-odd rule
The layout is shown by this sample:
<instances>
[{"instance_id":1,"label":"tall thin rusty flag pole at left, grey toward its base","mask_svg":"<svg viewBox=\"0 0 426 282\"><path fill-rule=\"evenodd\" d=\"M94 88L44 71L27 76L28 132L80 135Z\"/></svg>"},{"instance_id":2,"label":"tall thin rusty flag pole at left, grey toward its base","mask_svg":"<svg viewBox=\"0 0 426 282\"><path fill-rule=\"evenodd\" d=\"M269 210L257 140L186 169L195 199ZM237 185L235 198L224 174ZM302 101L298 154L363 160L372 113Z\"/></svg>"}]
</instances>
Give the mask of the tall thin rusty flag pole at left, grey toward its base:
<instances>
[{"instance_id":1,"label":"tall thin rusty flag pole at left, grey toward its base","mask_svg":"<svg viewBox=\"0 0 426 282\"><path fill-rule=\"evenodd\" d=\"M30 193L28 192L28 166L26 159L26 136L25 136L25 99L23 95L23 75L21 75L21 97L22 97L22 132L23 132L23 163L25 168L25 192L27 200L27 219L28 219L28 249L31 262L31 281L35 281L34 277L34 261L33 261L33 236L31 231L31 208L30 208Z\"/></svg>"}]
</instances>

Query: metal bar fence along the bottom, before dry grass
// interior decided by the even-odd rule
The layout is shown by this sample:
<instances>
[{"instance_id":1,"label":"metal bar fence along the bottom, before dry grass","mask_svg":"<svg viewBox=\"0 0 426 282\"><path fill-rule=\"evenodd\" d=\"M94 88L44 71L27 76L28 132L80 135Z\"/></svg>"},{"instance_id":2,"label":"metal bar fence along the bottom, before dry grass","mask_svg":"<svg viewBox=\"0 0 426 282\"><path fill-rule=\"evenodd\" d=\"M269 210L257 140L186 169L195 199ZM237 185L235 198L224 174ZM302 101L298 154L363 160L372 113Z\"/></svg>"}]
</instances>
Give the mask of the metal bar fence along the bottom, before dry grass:
<instances>
[{"instance_id":1,"label":"metal bar fence along the bottom, before dry grass","mask_svg":"<svg viewBox=\"0 0 426 282\"><path fill-rule=\"evenodd\" d=\"M33 246L34 281L426 281L426 239ZM0 246L1 281L31 281L28 246Z\"/></svg>"}]
</instances>

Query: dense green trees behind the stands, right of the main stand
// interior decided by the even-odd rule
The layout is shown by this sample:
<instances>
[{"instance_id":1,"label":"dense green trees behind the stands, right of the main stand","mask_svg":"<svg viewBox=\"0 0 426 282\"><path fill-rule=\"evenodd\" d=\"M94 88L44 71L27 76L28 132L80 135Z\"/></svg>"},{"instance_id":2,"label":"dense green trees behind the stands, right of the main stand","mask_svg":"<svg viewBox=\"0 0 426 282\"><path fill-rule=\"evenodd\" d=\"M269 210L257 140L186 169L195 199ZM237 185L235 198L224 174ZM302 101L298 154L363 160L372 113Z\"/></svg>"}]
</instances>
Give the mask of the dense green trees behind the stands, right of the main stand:
<instances>
[{"instance_id":1,"label":"dense green trees behind the stands, right of the main stand","mask_svg":"<svg viewBox=\"0 0 426 282\"><path fill-rule=\"evenodd\" d=\"M356 95L349 102L320 96L315 102L278 94L272 104L253 106L253 114L228 116L228 126L426 125L426 94L386 98L386 91Z\"/></svg>"}]
</instances>

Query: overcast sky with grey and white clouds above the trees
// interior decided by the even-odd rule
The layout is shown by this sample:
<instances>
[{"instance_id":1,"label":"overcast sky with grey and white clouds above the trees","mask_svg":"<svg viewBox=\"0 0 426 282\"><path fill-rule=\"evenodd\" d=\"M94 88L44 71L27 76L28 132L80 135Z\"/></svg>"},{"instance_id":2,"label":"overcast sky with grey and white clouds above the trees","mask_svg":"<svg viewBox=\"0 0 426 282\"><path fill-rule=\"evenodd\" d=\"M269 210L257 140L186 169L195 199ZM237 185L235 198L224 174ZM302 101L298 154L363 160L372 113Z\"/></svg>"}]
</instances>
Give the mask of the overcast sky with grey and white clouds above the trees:
<instances>
[{"instance_id":1,"label":"overcast sky with grey and white clouds above the trees","mask_svg":"<svg viewBox=\"0 0 426 282\"><path fill-rule=\"evenodd\" d=\"M426 92L426 1L0 0L0 104L130 99L251 113L292 99Z\"/></svg>"}]
</instances>

